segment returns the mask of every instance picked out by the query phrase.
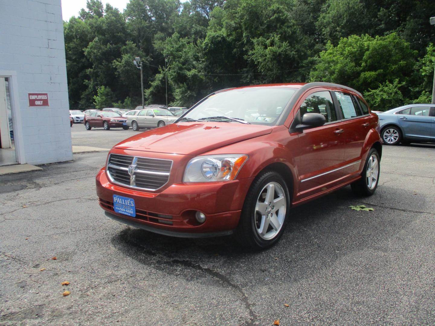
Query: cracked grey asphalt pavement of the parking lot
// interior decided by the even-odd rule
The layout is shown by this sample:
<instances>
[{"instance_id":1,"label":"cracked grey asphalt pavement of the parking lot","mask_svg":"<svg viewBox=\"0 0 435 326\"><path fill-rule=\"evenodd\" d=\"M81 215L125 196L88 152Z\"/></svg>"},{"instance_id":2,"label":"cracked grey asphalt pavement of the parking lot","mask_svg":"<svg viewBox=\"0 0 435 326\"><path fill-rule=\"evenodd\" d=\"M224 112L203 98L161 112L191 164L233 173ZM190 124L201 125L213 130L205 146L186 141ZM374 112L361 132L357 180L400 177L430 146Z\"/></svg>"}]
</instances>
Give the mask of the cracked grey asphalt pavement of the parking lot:
<instances>
[{"instance_id":1,"label":"cracked grey asphalt pavement of the parking lot","mask_svg":"<svg viewBox=\"0 0 435 326\"><path fill-rule=\"evenodd\" d=\"M135 134L72 131L103 148ZM262 252L110 220L95 194L104 152L0 176L0 324L434 325L435 146L383 152L373 196L348 186L294 208Z\"/></svg>"}]
</instances>

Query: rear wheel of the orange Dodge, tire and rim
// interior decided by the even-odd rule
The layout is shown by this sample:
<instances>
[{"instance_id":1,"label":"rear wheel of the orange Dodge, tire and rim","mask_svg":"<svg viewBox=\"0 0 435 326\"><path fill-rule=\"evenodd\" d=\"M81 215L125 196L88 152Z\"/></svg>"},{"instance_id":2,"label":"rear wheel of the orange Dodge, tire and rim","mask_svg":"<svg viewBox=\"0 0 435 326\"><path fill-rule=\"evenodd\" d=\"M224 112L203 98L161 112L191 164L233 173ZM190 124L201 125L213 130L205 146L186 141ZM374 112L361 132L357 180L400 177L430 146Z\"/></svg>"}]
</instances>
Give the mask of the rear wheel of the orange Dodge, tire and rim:
<instances>
[{"instance_id":1,"label":"rear wheel of the orange Dodge, tire and rim","mask_svg":"<svg viewBox=\"0 0 435 326\"><path fill-rule=\"evenodd\" d=\"M379 153L375 148L368 152L367 160L362 169L361 179L351 183L354 193L359 196L371 196L378 188L379 174L381 172Z\"/></svg>"}]
</instances>

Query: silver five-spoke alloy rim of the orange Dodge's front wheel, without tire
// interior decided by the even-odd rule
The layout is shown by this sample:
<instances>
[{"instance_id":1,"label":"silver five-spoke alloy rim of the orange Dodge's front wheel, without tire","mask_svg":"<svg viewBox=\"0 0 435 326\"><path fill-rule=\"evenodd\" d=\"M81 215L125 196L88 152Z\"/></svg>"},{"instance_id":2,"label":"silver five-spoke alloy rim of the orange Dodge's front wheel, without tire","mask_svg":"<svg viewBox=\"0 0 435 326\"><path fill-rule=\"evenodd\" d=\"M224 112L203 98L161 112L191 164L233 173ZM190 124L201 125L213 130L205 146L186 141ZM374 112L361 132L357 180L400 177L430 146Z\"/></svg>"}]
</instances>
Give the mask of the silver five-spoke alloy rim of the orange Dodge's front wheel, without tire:
<instances>
[{"instance_id":1,"label":"silver five-spoke alloy rim of the orange Dodge's front wheel, without tire","mask_svg":"<svg viewBox=\"0 0 435 326\"><path fill-rule=\"evenodd\" d=\"M270 182L263 187L255 205L255 228L264 240L278 235L284 225L287 199L283 187Z\"/></svg>"}]
</instances>

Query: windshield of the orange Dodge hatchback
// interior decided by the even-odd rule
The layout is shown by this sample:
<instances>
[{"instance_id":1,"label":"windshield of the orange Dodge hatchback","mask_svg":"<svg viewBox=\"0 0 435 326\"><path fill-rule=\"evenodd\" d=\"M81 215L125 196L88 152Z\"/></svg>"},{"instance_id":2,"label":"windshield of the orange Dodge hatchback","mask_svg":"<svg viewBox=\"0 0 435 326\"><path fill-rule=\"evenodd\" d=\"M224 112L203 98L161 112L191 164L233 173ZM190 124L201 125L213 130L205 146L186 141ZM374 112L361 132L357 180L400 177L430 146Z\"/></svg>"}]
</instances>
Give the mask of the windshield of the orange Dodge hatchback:
<instances>
[{"instance_id":1,"label":"windshield of the orange Dodge hatchback","mask_svg":"<svg viewBox=\"0 0 435 326\"><path fill-rule=\"evenodd\" d=\"M184 118L224 121L225 117L272 126L281 116L296 89L278 86L248 87L213 94ZM235 122L227 119L228 122Z\"/></svg>"}]
</instances>

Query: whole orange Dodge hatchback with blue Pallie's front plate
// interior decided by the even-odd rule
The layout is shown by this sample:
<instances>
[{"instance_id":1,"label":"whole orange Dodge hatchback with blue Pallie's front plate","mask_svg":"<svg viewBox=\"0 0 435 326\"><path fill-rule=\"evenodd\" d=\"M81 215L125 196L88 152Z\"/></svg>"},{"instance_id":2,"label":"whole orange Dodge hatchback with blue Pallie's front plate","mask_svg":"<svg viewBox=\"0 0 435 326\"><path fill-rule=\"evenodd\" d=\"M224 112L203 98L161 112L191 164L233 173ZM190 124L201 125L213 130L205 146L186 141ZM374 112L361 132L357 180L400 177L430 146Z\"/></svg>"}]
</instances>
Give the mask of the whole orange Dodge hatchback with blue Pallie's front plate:
<instances>
[{"instance_id":1,"label":"whole orange Dodge hatchback with blue Pallie's front plate","mask_svg":"<svg viewBox=\"0 0 435 326\"><path fill-rule=\"evenodd\" d=\"M175 123L115 145L97 174L105 214L181 237L229 235L254 249L282 236L291 206L351 185L376 190L378 116L331 83L220 90Z\"/></svg>"}]
</instances>

